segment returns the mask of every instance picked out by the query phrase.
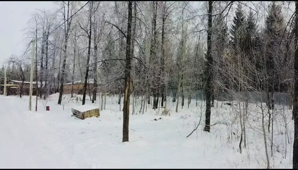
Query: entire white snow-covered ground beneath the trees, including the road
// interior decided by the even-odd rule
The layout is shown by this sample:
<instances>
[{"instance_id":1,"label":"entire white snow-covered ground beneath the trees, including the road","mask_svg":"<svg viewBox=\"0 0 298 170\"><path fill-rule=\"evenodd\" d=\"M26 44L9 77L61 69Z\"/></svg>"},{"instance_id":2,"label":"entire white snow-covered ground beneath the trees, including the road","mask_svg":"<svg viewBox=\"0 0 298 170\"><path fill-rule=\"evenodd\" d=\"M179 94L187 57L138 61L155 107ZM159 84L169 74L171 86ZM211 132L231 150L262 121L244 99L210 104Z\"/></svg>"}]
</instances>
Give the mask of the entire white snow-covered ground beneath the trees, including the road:
<instances>
[{"instance_id":1,"label":"entire white snow-covered ground beneath the trees, including the road","mask_svg":"<svg viewBox=\"0 0 298 170\"><path fill-rule=\"evenodd\" d=\"M28 111L28 96L22 99L0 96L0 168L219 169L267 166L262 116L256 104L249 105L245 124L246 148L243 141L240 154L241 129L237 109L222 105L222 102L215 101L215 107L212 107L211 124L215 125L208 133L203 131L204 101L199 101L196 107L193 99L187 109L186 99L184 108L181 109L179 104L176 113L176 103L173 105L169 99L170 116L161 116L162 109L152 110L152 106L148 106L144 114L139 113L141 97L134 99L137 100L137 114L132 115L131 104L129 142L122 143L123 112L119 111L118 96L107 96L106 110L100 111L99 118L80 120L71 116L71 107L81 105L81 102L63 95L63 104L57 105L58 95L53 94L46 101L38 99L37 112L35 96L33 111ZM97 104L91 104L89 96L86 98L89 99L86 104L100 108L99 97ZM121 110L122 105L123 98ZM50 111L46 111L46 106ZM292 168L294 124L291 110L281 111L282 107L277 106L274 113L272 157L266 116L271 168ZM186 138L201 116L198 130Z\"/></svg>"}]
</instances>

